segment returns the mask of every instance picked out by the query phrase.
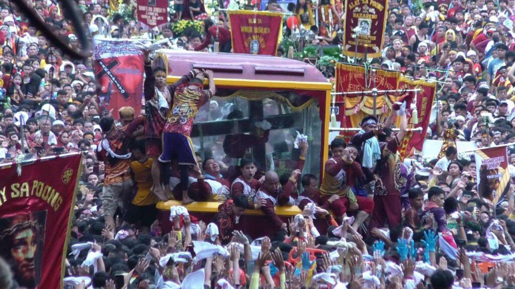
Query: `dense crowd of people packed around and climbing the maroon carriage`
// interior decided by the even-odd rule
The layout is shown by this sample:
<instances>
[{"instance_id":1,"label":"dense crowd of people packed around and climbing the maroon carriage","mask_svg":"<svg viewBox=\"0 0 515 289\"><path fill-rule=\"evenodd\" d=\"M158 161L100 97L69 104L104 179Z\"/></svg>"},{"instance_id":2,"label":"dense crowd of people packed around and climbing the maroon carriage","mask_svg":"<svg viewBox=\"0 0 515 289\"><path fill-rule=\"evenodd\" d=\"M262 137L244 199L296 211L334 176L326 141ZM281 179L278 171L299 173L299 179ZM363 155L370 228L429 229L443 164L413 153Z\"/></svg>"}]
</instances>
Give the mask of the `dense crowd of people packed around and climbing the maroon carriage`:
<instances>
[{"instance_id":1,"label":"dense crowd of people packed around and climbing the maroon carriage","mask_svg":"<svg viewBox=\"0 0 515 289\"><path fill-rule=\"evenodd\" d=\"M80 46L59 5L29 2L54 33ZM477 147L515 142L515 1L389 0L383 56L367 61L438 82L426 138L442 140L440 154L400 160L407 123L399 103L384 122L367 116L352 138L332 140L323 174L305 172L307 137L273 140L284 140L286 173L256 161L251 147L237 161L200 154L190 137L196 120L242 113L215 98L210 70L194 69L168 85L151 51L144 51L142 115L132 107L106 110L92 58L63 55L15 2L0 3L0 161L83 154L66 288L515 286L513 179L492 203L492 191L478 193L474 158L457 150L460 141ZM106 0L78 5L90 37L102 33L92 22L101 15L110 21L112 38L170 39L163 48L195 51L213 51L216 41L219 51L231 51L225 17L214 23L200 0L175 2L170 22L203 19L201 31L180 35L173 25L138 29ZM270 0L266 9L295 14L306 31L317 33L313 44L327 45L341 44L343 5L297 0L285 8ZM259 136L245 135L246 142L285 138L269 123L256 130ZM512 146L508 159L514 177ZM170 232L156 208L167 200L182 202L170 208ZM195 201L219 203L210 223L188 212ZM301 213L285 222L278 206L297 206ZM238 227L252 218L245 210L261 210L274 233L252 240L247 230L254 228ZM0 288L34 287L10 280L8 266L15 274L15 264L0 261Z\"/></svg>"}]
</instances>

